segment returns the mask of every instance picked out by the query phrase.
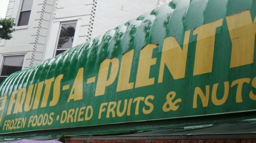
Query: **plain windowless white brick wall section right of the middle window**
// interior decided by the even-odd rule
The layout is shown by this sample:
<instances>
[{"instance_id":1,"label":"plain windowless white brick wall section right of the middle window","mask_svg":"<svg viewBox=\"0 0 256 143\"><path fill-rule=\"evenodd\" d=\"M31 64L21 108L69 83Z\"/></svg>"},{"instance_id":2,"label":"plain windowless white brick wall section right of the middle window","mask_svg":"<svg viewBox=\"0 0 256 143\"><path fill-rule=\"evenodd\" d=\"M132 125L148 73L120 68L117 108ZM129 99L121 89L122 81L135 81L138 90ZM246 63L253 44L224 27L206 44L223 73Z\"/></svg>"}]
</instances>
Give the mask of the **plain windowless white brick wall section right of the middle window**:
<instances>
[{"instance_id":1,"label":"plain windowless white brick wall section right of the middle window","mask_svg":"<svg viewBox=\"0 0 256 143\"><path fill-rule=\"evenodd\" d=\"M91 38L155 9L157 3L158 0L97 0Z\"/></svg>"}]
</instances>

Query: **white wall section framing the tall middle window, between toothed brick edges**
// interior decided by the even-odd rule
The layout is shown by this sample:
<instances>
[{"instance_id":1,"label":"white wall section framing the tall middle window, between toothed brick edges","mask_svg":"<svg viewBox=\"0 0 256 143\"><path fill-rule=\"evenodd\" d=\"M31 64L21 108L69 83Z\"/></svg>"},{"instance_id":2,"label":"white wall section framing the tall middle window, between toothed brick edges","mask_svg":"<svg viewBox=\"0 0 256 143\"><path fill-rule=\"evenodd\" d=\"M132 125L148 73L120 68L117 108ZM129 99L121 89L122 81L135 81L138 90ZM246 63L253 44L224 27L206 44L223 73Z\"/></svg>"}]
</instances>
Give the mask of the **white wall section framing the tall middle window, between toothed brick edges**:
<instances>
[{"instance_id":1,"label":"white wall section framing the tall middle window, between toothed brick edges","mask_svg":"<svg viewBox=\"0 0 256 143\"><path fill-rule=\"evenodd\" d=\"M85 43L89 38L90 21L93 15L95 0L57 0L53 27L48 37L49 43L44 60L54 56L58 41L59 29L62 23L77 22L73 46Z\"/></svg>"}]
</instances>

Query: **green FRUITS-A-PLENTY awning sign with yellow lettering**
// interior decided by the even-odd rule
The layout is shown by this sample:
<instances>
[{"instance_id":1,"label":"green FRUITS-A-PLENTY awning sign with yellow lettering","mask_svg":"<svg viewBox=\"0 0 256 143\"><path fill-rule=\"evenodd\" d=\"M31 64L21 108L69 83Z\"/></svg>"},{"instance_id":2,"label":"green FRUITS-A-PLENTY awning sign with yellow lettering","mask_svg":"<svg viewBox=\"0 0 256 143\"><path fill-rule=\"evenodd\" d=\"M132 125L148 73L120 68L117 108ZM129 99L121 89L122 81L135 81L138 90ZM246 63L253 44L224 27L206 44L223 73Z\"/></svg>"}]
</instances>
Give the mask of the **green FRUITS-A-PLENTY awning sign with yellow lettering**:
<instances>
[{"instance_id":1,"label":"green FRUITS-A-PLENTY awning sign with yellow lettering","mask_svg":"<svg viewBox=\"0 0 256 143\"><path fill-rule=\"evenodd\" d=\"M193 1L11 74L0 133L256 110L256 2Z\"/></svg>"}]
</instances>

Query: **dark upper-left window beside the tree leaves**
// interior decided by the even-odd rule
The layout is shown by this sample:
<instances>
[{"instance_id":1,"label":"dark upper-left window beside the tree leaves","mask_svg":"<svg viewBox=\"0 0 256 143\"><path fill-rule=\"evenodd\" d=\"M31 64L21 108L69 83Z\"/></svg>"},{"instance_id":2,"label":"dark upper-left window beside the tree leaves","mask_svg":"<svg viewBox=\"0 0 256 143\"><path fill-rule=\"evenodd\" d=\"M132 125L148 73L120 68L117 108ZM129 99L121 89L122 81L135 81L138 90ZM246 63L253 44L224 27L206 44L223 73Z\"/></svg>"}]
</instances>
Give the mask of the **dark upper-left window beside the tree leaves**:
<instances>
[{"instance_id":1,"label":"dark upper-left window beside the tree leaves","mask_svg":"<svg viewBox=\"0 0 256 143\"><path fill-rule=\"evenodd\" d=\"M33 3L33 0L23 0L20 17L18 21L18 26L29 24L32 3Z\"/></svg>"}]
</instances>

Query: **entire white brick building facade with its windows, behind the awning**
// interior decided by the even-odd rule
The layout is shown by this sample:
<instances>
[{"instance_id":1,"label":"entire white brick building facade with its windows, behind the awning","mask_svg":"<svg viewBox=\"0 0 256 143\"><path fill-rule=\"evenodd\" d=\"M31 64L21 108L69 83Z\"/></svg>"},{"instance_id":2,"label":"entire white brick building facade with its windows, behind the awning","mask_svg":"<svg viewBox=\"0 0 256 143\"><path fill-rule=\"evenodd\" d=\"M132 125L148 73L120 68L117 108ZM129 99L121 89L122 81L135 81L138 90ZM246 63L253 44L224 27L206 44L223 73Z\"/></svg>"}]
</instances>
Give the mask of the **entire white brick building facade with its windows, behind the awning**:
<instances>
[{"instance_id":1,"label":"entire white brick building facade with its windows, behind the awning","mask_svg":"<svg viewBox=\"0 0 256 143\"><path fill-rule=\"evenodd\" d=\"M17 26L0 40L0 82L169 1L9 0L6 18Z\"/></svg>"}]
</instances>

